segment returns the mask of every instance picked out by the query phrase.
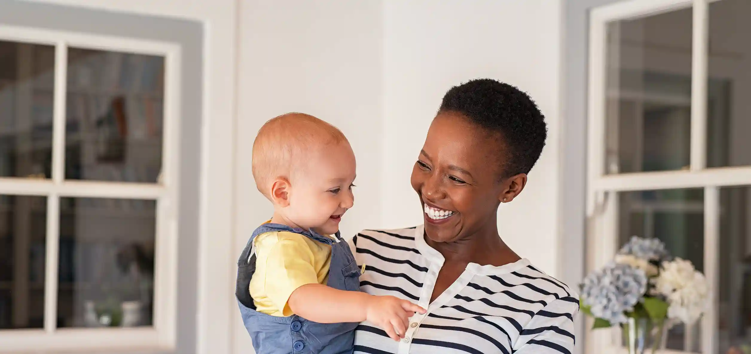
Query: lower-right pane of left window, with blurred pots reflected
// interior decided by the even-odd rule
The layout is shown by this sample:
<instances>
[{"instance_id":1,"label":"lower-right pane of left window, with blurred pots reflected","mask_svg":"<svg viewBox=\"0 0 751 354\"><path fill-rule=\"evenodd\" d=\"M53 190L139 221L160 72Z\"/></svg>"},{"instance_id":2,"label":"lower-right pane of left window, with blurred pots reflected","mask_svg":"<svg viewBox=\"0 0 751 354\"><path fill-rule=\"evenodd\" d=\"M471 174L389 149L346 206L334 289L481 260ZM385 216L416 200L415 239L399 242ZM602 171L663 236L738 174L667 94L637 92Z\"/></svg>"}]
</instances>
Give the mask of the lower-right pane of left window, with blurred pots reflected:
<instances>
[{"instance_id":1,"label":"lower-right pane of left window, with blurred pots reflected","mask_svg":"<svg viewBox=\"0 0 751 354\"><path fill-rule=\"evenodd\" d=\"M151 326L156 202L61 198L61 327Z\"/></svg>"}]
</instances>

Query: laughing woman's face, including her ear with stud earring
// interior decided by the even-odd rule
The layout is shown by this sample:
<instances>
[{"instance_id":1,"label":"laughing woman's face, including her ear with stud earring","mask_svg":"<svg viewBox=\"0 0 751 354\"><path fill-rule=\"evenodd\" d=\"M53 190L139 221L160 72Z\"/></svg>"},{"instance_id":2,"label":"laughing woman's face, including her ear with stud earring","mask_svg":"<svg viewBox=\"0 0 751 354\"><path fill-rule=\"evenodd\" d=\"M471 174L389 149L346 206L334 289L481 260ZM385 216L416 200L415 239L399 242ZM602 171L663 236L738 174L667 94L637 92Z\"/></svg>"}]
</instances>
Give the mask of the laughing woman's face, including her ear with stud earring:
<instances>
[{"instance_id":1,"label":"laughing woman's face, including her ear with stud earring","mask_svg":"<svg viewBox=\"0 0 751 354\"><path fill-rule=\"evenodd\" d=\"M511 201L526 182L526 175L501 178L504 145L460 113L436 115L412 169L429 239L453 242L485 227L495 231L499 203Z\"/></svg>"}]
</instances>

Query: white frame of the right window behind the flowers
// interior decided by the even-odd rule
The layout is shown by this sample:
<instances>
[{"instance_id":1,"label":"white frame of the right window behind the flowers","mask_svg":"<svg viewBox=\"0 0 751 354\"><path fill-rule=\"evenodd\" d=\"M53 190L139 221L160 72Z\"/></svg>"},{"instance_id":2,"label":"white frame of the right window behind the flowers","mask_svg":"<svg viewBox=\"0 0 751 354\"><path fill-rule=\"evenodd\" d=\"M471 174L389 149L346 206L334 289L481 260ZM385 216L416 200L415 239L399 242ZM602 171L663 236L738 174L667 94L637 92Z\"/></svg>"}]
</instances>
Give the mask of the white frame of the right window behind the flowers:
<instances>
[{"instance_id":1,"label":"white frame of the right window behind the flowers","mask_svg":"<svg viewBox=\"0 0 751 354\"><path fill-rule=\"evenodd\" d=\"M618 192L704 188L704 274L710 287L707 312L698 325L700 353L716 353L719 311L719 188L751 185L751 166L706 167L709 3L722 0L629 0L596 7L590 13L587 217L588 270L611 261L617 252ZM687 170L605 174L605 98L607 24L692 7L691 165ZM591 328L591 319L588 320ZM687 335L686 343L691 341ZM627 353L620 330L587 333L591 353ZM684 353L664 350L660 353Z\"/></svg>"}]
</instances>

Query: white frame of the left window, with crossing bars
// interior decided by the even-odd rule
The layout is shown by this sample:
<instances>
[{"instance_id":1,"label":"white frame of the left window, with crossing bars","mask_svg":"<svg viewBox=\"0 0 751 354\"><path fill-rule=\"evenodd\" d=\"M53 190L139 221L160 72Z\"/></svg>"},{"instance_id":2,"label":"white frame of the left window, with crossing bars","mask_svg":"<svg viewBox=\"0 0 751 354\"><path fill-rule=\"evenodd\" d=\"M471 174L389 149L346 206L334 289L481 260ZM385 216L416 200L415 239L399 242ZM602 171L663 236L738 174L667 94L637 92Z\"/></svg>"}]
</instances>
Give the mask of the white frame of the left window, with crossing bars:
<instances>
[{"instance_id":1,"label":"white frame of the left window, with crossing bars","mask_svg":"<svg viewBox=\"0 0 751 354\"><path fill-rule=\"evenodd\" d=\"M0 330L0 353L86 350L172 350L175 347L179 98L181 49L176 43L0 25L0 40L55 46L52 178L0 178L0 194L46 196L44 329ZM157 183L65 180L68 47L164 57L164 124ZM58 329L59 198L151 199L156 202L154 307L151 327Z\"/></svg>"}]
</instances>

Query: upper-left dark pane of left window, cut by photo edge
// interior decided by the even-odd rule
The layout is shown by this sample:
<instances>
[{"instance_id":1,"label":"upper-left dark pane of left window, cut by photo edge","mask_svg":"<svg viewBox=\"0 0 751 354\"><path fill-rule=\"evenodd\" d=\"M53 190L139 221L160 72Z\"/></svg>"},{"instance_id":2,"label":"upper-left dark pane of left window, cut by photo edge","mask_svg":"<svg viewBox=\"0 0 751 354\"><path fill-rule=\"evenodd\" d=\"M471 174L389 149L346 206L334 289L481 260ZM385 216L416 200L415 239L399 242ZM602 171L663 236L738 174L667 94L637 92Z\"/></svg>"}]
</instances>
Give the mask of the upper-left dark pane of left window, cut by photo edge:
<instances>
[{"instance_id":1,"label":"upper-left dark pane of left window, cut by photo edge","mask_svg":"<svg viewBox=\"0 0 751 354\"><path fill-rule=\"evenodd\" d=\"M50 178L55 48L0 40L0 177Z\"/></svg>"}]
</instances>

